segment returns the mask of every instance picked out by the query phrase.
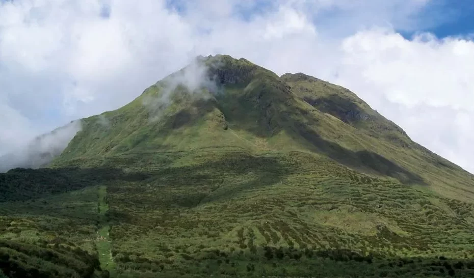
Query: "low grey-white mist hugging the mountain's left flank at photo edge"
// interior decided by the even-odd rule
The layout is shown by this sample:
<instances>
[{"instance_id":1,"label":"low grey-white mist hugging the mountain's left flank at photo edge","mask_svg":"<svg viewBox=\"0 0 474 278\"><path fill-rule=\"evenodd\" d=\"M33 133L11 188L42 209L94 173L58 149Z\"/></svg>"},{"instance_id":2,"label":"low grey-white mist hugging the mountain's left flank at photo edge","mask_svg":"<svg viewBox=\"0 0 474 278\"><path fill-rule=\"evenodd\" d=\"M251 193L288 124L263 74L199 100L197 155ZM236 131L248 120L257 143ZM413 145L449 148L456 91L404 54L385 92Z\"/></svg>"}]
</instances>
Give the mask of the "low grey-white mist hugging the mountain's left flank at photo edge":
<instances>
[{"instance_id":1,"label":"low grey-white mist hugging the mountain's left flank at photo edge","mask_svg":"<svg viewBox=\"0 0 474 278\"><path fill-rule=\"evenodd\" d=\"M0 156L0 173L14 168L38 169L46 166L66 149L69 142L81 129L81 120L72 121L20 145L10 153Z\"/></svg>"}]
</instances>

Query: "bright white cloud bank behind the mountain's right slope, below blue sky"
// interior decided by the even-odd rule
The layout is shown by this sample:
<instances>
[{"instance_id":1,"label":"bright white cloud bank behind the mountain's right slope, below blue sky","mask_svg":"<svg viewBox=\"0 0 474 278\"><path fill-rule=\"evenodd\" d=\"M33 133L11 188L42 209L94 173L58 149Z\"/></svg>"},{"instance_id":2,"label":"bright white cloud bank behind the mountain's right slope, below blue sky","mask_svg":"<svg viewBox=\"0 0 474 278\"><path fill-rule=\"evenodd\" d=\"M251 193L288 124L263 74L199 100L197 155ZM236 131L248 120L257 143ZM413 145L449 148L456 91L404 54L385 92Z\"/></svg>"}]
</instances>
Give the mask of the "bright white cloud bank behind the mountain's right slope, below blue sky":
<instances>
[{"instance_id":1,"label":"bright white cloud bank behind the mountain's right slope, below blue sky","mask_svg":"<svg viewBox=\"0 0 474 278\"><path fill-rule=\"evenodd\" d=\"M474 43L386 30L355 34L341 44L338 77L416 142L474 170Z\"/></svg>"}]
</instances>

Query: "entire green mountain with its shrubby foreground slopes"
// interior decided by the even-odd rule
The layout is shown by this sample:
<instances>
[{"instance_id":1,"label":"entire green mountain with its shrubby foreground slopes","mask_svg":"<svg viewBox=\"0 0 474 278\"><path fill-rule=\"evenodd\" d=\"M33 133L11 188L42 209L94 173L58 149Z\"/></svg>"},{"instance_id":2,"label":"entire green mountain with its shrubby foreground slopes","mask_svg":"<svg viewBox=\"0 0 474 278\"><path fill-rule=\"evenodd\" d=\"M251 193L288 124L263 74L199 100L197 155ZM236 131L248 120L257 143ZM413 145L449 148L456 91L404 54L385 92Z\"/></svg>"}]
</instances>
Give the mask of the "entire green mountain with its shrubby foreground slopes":
<instances>
[{"instance_id":1,"label":"entire green mountain with its shrubby foreground slopes","mask_svg":"<svg viewBox=\"0 0 474 278\"><path fill-rule=\"evenodd\" d=\"M198 57L81 125L0 176L6 275L474 274L474 177L345 88Z\"/></svg>"}]
</instances>

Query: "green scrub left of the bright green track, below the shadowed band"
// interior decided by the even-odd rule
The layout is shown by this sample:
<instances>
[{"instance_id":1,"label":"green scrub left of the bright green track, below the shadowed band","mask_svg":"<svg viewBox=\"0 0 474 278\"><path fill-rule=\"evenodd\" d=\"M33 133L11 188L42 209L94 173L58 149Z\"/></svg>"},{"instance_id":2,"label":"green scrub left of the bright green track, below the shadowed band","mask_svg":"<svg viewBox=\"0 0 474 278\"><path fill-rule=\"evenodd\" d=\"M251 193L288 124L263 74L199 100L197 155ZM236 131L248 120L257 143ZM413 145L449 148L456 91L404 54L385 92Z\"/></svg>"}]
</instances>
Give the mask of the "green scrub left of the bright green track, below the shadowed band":
<instances>
[{"instance_id":1,"label":"green scrub left of the bright green track, below the shadowed band","mask_svg":"<svg viewBox=\"0 0 474 278\"><path fill-rule=\"evenodd\" d=\"M31 182L31 176L27 177ZM99 267L92 243L96 198L96 190L84 188L0 203L3 273L8 277L93 277Z\"/></svg>"}]
</instances>

